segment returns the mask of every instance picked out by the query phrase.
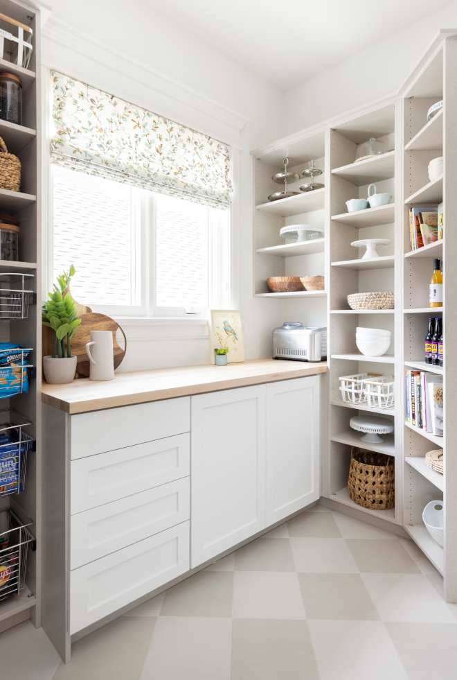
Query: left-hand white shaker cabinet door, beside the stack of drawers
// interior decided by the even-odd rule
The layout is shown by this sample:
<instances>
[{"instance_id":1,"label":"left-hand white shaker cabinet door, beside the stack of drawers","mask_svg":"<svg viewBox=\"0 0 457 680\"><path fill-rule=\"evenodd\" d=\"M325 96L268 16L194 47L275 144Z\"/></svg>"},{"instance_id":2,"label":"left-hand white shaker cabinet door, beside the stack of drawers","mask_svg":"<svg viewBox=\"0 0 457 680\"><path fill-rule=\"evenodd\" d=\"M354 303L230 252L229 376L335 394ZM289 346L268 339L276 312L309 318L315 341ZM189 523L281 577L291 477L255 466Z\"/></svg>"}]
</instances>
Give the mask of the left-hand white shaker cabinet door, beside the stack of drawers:
<instances>
[{"instance_id":1,"label":"left-hand white shaker cabinet door, beside the stack of drawers","mask_svg":"<svg viewBox=\"0 0 457 680\"><path fill-rule=\"evenodd\" d=\"M190 410L193 568L265 528L265 386L192 396Z\"/></svg>"}]
</instances>

